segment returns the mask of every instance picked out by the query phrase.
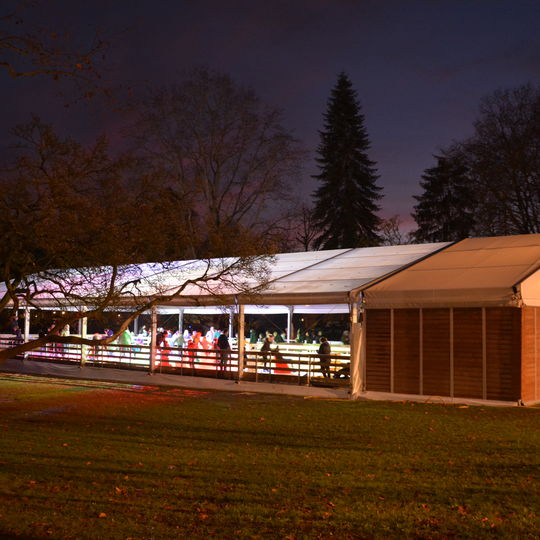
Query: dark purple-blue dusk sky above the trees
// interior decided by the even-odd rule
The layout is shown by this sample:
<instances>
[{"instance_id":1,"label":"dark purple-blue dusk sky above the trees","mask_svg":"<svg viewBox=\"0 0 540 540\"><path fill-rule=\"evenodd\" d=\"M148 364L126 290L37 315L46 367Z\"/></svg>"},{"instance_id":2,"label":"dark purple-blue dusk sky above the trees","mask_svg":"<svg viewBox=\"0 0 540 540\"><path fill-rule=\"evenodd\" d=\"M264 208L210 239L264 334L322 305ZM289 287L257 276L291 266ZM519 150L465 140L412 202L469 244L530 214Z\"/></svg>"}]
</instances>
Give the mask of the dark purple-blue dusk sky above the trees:
<instances>
[{"instance_id":1,"label":"dark purple-blue dusk sky above the trees","mask_svg":"<svg viewBox=\"0 0 540 540\"><path fill-rule=\"evenodd\" d=\"M381 216L400 214L406 228L423 170L472 133L480 98L540 83L537 0L51 0L33 9L82 43L95 30L105 36L107 83L167 84L206 65L252 86L310 152L306 199L326 101L347 72L385 194ZM62 85L45 78L0 81L4 148L32 112L83 141L114 141L129 121L94 102L65 108Z\"/></svg>"}]
</instances>

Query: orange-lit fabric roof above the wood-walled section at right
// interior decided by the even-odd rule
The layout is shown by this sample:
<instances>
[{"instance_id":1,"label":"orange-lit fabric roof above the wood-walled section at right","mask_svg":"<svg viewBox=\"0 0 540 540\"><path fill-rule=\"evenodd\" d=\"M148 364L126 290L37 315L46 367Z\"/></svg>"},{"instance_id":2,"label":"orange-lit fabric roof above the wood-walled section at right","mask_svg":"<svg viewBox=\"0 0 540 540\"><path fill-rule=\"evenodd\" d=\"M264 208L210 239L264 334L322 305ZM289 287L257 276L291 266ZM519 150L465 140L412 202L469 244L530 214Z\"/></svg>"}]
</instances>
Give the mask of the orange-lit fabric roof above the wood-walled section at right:
<instances>
[{"instance_id":1,"label":"orange-lit fabric roof above the wood-walled section at right","mask_svg":"<svg viewBox=\"0 0 540 540\"><path fill-rule=\"evenodd\" d=\"M368 287L368 308L540 305L540 234L467 238Z\"/></svg>"}]
</instances>

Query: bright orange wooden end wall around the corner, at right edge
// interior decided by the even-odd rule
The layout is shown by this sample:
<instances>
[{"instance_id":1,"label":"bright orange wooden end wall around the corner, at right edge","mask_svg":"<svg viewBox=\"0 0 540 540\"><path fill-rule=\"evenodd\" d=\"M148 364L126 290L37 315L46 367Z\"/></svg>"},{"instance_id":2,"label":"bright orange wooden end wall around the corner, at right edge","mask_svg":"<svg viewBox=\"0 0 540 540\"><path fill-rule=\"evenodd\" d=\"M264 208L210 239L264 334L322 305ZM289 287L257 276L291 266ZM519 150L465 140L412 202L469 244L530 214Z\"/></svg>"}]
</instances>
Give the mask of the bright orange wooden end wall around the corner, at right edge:
<instances>
[{"instance_id":1,"label":"bright orange wooden end wall around the corner, at right edge","mask_svg":"<svg viewBox=\"0 0 540 540\"><path fill-rule=\"evenodd\" d=\"M524 307L521 310L521 399L536 401L539 393L540 310Z\"/></svg>"}]
</instances>

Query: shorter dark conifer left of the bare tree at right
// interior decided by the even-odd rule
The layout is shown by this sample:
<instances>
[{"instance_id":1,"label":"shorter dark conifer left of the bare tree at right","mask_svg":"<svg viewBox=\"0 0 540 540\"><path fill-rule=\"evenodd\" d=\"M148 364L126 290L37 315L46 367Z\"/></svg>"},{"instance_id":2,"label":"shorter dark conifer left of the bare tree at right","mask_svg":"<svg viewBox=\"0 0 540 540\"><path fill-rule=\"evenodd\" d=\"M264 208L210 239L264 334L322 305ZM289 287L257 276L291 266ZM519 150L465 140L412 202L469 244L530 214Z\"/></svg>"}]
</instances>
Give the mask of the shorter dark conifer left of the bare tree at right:
<instances>
[{"instance_id":1,"label":"shorter dark conifer left of the bare tree at right","mask_svg":"<svg viewBox=\"0 0 540 540\"><path fill-rule=\"evenodd\" d=\"M437 165L426 169L415 196L412 217L418 225L416 242L451 242L470 236L474 230L474 189L468 168L458 151L434 156Z\"/></svg>"}]
</instances>

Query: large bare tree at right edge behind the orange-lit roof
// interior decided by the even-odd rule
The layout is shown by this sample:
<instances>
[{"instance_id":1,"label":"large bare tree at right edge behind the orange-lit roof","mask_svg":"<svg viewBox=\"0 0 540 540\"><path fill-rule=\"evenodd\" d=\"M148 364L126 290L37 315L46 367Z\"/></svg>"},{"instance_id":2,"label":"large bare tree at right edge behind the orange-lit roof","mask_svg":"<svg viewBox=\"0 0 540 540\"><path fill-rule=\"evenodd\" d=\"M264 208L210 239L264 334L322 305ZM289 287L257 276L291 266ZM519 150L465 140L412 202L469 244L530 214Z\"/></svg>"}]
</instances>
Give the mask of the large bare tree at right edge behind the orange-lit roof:
<instances>
[{"instance_id":1,"label":"large bare tree at right edge behind the orange-lit roof","mask_svg":"<svg viewBox=\"0 0 540 540\"><path fill-rule=\"evenodd\" d=\"M484 98L462 147L479 195L476 232L540 232L540 88L527 84Z\"/></svg>"}]
</instances>

